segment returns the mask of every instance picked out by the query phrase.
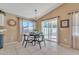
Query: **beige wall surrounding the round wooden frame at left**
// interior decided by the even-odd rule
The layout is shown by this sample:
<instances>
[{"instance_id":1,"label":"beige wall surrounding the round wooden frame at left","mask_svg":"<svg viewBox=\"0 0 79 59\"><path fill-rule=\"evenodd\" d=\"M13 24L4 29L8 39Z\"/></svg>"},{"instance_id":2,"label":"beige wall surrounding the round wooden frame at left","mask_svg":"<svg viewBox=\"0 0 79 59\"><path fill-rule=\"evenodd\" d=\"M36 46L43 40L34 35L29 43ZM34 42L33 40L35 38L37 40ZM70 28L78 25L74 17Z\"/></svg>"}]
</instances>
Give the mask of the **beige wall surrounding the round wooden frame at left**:
<instances>
[{"instance_id":1,"label":"beige wall surrounding the round wooden frame at left","mask_svg":"<svg viewBox=\"0 0 79 59\"><path fill-rule=\"evenodd\" d=\"M16 26L9 26L8 20L14 19L16 21ZM6 14L5 16L5 28L4 32L4 44L16 42L18 40L18 18L12 14Z\"/></svg>"}]
</instances>

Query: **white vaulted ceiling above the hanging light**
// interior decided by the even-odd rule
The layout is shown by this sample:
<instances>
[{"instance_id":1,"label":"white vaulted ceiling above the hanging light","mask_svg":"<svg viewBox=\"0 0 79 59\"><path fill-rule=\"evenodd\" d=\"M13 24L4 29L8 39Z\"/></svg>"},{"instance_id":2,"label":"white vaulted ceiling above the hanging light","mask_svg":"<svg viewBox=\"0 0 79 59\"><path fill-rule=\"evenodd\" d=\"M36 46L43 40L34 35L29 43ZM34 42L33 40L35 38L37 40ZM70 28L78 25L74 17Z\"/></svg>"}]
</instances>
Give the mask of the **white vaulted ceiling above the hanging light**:
<instances>
[{"instance_id":1,"label":"white vaulted ceiling above the hanging light","mask_svg":"<svg viewBox=\"0 0 79 59\"><path fill-rule=\"evenodd\" d=\"M37 9L38 18L62 5L61 3L0 3L0 9L21 17L34 18Z\"/></svg>"}]
</instances>

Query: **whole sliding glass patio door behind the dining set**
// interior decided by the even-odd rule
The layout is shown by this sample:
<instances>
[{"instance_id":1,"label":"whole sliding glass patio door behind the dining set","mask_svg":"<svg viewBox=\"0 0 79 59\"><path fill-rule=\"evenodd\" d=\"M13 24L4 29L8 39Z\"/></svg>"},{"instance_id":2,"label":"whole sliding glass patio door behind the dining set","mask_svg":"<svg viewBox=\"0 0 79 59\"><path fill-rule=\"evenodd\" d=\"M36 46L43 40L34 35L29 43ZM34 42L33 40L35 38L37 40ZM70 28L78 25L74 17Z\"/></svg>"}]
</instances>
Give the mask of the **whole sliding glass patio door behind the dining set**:
<instances>
[{"instance_id":1,"label":"whole sliding glass patio door behind the dining set","mask_svg":"<svg viewBox=\"0 0 79 59\"><path fill-rule=\"evenodd\" d=\"M57 18L42 21L42 32L45 39L57 42Z\"/></svg>"}]
</instances>

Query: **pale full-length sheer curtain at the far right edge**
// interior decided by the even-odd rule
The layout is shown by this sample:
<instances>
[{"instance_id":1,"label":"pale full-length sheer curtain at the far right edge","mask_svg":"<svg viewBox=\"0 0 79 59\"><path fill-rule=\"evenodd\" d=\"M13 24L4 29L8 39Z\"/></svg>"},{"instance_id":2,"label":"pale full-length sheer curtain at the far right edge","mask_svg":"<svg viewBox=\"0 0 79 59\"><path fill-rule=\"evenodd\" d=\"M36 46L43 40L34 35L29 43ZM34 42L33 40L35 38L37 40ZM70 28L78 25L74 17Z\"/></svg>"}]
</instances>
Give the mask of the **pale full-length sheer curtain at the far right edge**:
<instances>
[{"instance_id":1,"label":"pale full-length sheer curtain at the far right edge","mask_svg":"<svg viewBox=\"0 0 79 59\"><path fill-rule=\"evenodd\" d=\"M79 49L79 12L72 15L73 48Z\"/></svg>"}]
</instances>

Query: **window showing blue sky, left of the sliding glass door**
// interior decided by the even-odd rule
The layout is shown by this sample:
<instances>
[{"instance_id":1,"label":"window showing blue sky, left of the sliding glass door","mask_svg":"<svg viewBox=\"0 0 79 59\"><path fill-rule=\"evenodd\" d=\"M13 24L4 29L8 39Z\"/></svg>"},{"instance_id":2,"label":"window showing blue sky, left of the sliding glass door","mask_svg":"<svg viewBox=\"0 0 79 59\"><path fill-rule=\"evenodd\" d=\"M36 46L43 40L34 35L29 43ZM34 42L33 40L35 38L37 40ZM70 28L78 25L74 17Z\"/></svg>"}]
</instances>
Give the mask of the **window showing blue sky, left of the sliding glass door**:
<instances>
[{"instance_id":1,"label":"window showing blue sky, left of the sliding glass door","mask_svg":"<svg viewBox=\"0 0 79 59\"><path fill-rule=\"evenodd\" d=\"M23 28L23 33L32 32L35 29L35 22L33 21L23 20L20 24Z\"/></svg>"}]
</instances>

